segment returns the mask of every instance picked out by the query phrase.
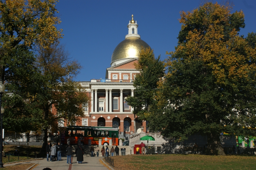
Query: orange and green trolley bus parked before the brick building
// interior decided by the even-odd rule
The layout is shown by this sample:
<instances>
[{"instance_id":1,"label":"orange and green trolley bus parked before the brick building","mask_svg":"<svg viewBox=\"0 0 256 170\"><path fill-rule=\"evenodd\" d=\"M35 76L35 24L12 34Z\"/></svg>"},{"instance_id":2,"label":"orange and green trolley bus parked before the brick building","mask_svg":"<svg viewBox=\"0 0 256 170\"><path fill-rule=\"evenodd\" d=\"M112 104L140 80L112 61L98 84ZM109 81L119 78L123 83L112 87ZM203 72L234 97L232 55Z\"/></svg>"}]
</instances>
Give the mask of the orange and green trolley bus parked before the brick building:
<instances>
[{"instance_id":1,"label":"orange and green trolley bus parked before the brick building","mask_svg":"<svg viewBox=\"0 0 256 170\"><path fill-rule=\"evenodd\" d=\"M61 127L61 143L63 144L88 144L91 139L92 145L109 145L109 140L112 139L112 145L118 145L118 128L101 127L101 126L68 126Z\"/></svg>"}]
</instances>

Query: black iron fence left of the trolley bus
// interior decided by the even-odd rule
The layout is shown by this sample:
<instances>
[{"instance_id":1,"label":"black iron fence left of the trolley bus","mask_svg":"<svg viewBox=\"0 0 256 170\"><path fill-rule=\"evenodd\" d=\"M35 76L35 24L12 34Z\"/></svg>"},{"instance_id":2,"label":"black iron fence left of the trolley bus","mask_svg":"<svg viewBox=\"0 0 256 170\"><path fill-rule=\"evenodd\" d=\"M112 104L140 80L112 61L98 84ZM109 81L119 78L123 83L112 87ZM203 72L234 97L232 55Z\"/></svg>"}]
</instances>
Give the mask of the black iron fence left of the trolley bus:
<instances>
[{"instance_id":1,"label":"black iron fence left of the trolley bus","mask_svg":"<svg viewBox=\"0 0 256 170\"><path fill-rule=\"evenodd\" d=\"M50 143L60 142L59 135L47 135L47 141ZM27 134L4 134L4 142L6 144L33 144L41 145L43 143L43 135Z\"/></svg>"}]
</instances>

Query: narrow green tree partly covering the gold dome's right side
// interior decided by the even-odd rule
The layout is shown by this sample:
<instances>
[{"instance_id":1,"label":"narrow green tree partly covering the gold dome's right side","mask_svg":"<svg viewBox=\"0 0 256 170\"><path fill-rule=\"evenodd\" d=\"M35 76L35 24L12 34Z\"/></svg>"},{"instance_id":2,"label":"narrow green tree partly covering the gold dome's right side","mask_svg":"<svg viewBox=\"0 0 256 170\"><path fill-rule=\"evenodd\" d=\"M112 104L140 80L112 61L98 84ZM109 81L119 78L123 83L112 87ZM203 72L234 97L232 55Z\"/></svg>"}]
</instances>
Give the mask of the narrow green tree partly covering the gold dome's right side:
<instances>
[{"instance_id":1,"label":"narrow green tree partly covering the gold dome's right side","mask_svg":"<svg viewBox=\"0 0 256 170\"><path fill-rule=\"evenodd\" d=\"M136 90L134 96L127 97L126 101L134 108L134 119L137 115L140 120L147 120L150 107L156 104L154 97L157 83L164 76L164 62L160 60L160 56L155 58L153 50L150 48L142 48L135 68L140 70L140 74L137 74L133 81Z\"/></svg>"}]
</instances>

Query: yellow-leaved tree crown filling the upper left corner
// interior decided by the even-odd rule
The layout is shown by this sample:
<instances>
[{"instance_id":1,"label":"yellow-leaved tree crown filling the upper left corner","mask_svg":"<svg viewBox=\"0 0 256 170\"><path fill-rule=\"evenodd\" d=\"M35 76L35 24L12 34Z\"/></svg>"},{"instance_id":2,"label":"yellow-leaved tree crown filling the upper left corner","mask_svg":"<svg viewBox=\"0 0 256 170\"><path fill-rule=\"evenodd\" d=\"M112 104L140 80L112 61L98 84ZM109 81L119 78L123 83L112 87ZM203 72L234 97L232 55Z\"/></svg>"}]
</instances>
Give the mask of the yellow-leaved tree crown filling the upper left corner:
<instances>
[{"instance_id":1,"label":"yellow-leaved tree crown filling the upper left corner","mask_svg":"<svg viewBox=\"0 0 256 170\"><path fill-rule=\"evenodd\" d=\"M32 49L35 45L48 48L62 37L62 30L55 25L57 0L1 0L0 1L0 77L2 81L10 64L16 64L18 48Z\"/></svg>"}]
</instances>

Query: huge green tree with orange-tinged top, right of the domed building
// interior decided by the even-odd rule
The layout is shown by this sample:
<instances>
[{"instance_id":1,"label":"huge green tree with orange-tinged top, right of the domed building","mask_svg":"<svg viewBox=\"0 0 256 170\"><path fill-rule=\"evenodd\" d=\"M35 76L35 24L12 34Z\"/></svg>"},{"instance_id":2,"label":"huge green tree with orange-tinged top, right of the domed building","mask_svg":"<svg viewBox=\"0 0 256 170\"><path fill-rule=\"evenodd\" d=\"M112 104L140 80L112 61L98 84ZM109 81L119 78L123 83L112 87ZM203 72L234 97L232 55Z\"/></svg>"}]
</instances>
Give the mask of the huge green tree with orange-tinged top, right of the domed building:
<instances>
[{"instance_id":1,"label":"huge green tree with orange-tinged top, right of the domed building","mask_svg":"<svg viewBox=\"0 0 256 170\"><path fill-rule=\"evenodd\" d=\"M220 133L256 135L255 34L238 35L244 13L207 2L181 12L178 46L166 60L149 127L176 142L207 136L207 154L222 155Z\"/></svg>"}]
</instances>

